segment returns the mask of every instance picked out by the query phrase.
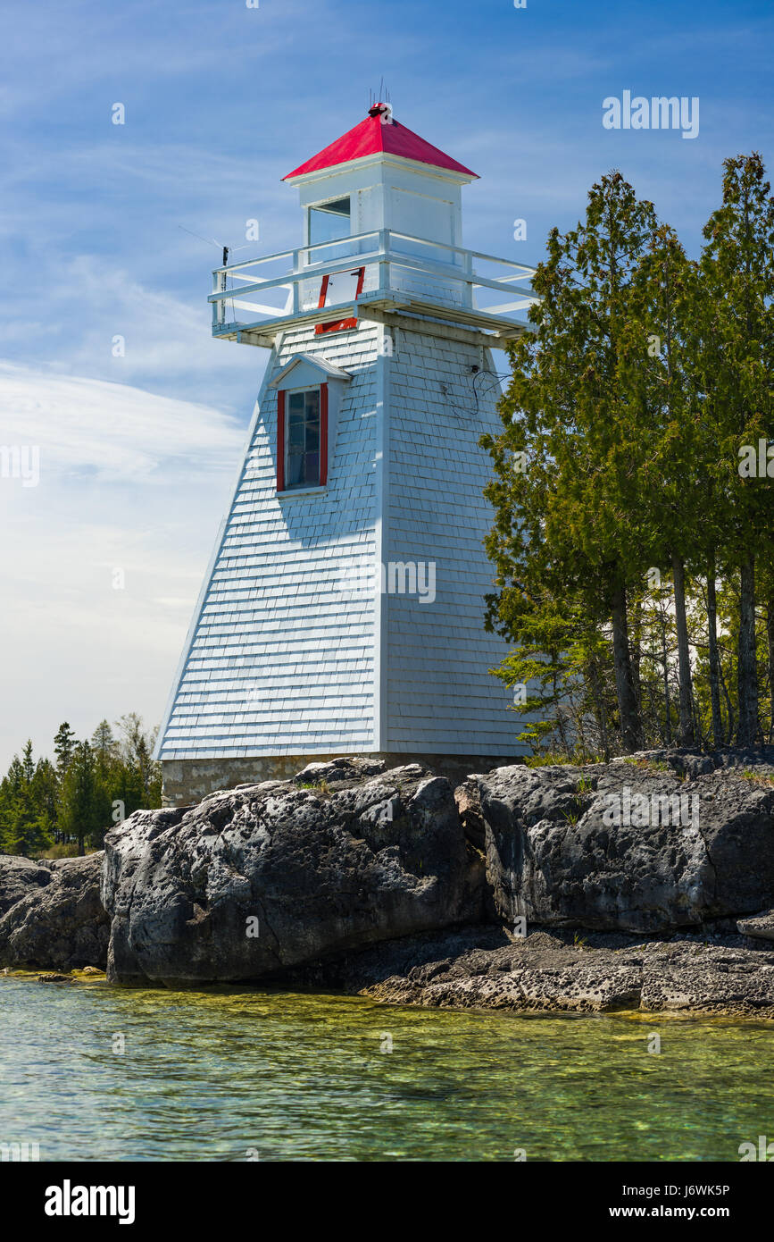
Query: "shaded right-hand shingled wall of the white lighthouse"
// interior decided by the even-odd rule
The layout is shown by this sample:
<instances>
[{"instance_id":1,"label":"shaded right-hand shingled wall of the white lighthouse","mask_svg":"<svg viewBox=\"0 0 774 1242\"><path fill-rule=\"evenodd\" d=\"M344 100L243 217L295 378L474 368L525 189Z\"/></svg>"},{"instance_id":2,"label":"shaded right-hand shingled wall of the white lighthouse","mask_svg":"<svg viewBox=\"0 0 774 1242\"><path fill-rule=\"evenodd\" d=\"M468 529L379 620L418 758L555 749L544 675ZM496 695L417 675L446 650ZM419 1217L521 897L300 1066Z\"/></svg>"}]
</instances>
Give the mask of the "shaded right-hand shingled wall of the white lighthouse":
<instances>
[{"instance_id":1,"label":"shaded right-hand shingled wall of the white lighthouse","mask_svg":"<svg viewBox=\"0 0 774 1242\"><path fill-rule=\"evenodd\" d=\"M396 334L389 363L386 559L433 561L435 600L386 597L385 750L514 755L509 692L489 669L505 643L484 631L492 568L483 540L492 510L483 488L484 431L501 428L489 350L418 333ZM445 394L442 390L445 388Z\"/></svg>"}]
</instances>

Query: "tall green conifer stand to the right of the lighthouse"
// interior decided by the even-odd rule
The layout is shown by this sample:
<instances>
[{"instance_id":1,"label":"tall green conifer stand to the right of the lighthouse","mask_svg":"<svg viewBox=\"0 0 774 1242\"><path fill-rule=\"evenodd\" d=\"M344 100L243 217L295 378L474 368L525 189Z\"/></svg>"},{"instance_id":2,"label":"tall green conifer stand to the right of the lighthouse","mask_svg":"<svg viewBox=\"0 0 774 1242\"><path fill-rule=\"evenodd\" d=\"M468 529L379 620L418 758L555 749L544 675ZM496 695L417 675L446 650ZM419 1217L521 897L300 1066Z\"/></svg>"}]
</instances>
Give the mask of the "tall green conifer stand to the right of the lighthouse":
<instances>
[{"instance_id":1,"label":"tall green conifer stand to the right of the lighthouse","mask_svg":"<svg viewBox=\"0 0 774 1242\"><path fill-rule=\"evenodd\" d=\"M774 200L726 161L690 261L619 173L548 237L533 332L485 436L487 627L514 643L518 738L541 754L774 740ZM774 471L773 471L774 473ZM758 604L758 606L757 606ZM768 712L758 693L768 686Z\"/></svg>"}]
</instances>

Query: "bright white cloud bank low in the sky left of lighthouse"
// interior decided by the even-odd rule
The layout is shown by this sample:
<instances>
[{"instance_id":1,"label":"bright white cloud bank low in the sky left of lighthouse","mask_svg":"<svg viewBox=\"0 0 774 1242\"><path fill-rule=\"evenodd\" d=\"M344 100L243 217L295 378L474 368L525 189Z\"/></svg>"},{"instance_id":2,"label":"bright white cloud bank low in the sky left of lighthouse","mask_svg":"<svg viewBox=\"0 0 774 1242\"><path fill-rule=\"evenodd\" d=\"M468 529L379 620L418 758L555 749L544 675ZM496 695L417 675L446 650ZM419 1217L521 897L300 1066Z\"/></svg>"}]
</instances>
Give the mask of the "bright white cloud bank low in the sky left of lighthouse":
<instances>
[{"instance_id":1,"label":"bright white cloud bank low in the sky left of lighthouse","mask_svg":"<svg viewBox=\"0 0 774 1242\"><path fill-rule=\"evenodd\" d=\"M37 487L0 478L0 768L63 719L159 722L244 436L205 405L0 364L0 445L41 461Z\"/></svg>"}]
</instances>

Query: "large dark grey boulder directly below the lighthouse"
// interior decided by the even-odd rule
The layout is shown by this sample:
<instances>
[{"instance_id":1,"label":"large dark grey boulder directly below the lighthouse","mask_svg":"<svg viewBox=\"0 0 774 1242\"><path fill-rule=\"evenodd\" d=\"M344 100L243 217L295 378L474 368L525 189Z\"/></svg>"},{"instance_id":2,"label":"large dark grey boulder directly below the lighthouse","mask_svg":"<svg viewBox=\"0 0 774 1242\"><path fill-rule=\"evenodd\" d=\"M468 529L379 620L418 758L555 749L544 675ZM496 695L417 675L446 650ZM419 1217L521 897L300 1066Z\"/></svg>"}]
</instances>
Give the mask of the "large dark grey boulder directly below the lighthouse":
<instances>
[{"instance_id":1,"label":"large dark grey boulder directly below the lighthouse","mask_svg":"<svg viewBox=\"0 0 774 1242\"><path fill-rule=\"evenodd\" d=\"M256 980L480 918L483 862L449 782L416 764L363 777L360 764L309 765L295 782L113 828L108 980ZM325 790L298 787L310 768Z\"/></svg>"}]
</instances>

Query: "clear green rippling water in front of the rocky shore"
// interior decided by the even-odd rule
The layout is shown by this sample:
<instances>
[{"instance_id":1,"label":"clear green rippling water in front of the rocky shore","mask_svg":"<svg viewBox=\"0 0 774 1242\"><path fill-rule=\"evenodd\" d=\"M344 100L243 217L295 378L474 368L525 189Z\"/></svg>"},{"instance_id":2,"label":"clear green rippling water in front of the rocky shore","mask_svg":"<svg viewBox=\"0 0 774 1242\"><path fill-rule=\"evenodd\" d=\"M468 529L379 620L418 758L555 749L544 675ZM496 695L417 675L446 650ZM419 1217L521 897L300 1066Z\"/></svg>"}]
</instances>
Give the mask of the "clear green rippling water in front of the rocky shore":
<instances>
[{"instance_id":1,"label":"clear green rippling water in front of the rocky shore","mask_svg":"<svg viewBox=\"0 0 774 1242\"><path fill-rule=\"evenodd\" d=\"M759 1134L764 1023L0 979L0 1141L41 1160L738 1160Z\"/></svg>"}]
</instances>

